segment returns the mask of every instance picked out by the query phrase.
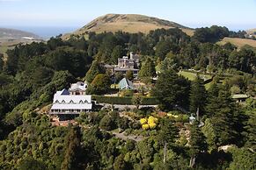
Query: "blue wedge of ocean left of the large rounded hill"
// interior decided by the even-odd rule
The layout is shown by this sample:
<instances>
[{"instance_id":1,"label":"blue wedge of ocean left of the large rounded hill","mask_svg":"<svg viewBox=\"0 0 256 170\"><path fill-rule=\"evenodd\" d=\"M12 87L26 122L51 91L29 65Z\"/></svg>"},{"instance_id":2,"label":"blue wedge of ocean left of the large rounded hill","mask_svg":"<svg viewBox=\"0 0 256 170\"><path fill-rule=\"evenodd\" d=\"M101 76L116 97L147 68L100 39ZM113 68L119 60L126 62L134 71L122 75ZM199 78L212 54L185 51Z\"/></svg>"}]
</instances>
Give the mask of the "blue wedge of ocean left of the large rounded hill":
<instances>
[{"instance_id":1,"label":"blue wedge of ocean left of the large rounded hill","mask_svg":"<svg viewBox=\"0 0 256 170\"><path fill-rule=\"evenodd\" d=\"M22 26L22 27L12 27L13 29L18 29L25 32L32 32L42 39L50 39L60 34L75 32L79 27L49 27L49 26Z\"/></svg>"}]
</instances>

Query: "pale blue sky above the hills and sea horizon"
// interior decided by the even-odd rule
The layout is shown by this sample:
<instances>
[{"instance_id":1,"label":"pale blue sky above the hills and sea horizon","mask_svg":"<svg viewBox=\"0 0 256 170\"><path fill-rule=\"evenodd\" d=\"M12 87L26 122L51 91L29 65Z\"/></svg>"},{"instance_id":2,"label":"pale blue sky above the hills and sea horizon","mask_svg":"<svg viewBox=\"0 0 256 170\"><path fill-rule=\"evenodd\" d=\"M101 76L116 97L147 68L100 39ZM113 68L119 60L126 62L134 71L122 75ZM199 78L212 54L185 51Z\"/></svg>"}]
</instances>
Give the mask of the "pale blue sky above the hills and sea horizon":
<instances>
[{"instance_id":1,"label":"pale blue sky above the hills and sea horizon","mask_svg":"<svg viewBox=\"0 0 256 170\"><path fill-rule=\"evenodd\" d=\"M0 26L81 27L106 13L133 13L181 25L256 28L256 0L0 0Z\"/></svg>"}]
</instances>

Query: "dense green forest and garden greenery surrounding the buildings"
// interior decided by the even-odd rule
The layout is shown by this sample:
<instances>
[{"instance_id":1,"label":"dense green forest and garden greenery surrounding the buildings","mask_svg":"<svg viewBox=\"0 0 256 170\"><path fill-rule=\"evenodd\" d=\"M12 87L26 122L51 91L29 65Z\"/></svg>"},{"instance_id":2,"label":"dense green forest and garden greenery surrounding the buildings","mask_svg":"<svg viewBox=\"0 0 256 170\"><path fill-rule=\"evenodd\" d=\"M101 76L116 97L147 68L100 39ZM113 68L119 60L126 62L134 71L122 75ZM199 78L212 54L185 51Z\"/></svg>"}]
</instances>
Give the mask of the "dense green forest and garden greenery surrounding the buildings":
<instances>
[{"instance_id":1,"label":"dense green forest and garden greenery surrounding the buildings","mask_svg":"<svg viewBox=\"0 0 256 170\"><path fill-rule=\"evenodd\" d=\"M216 44L243 35L211 26L192 37L178 28L89 32L15 46L7 60L0 55L0 169L256 169L256 50ZM95 110L62 127L40 113L56 90L76 81L88 81L90 94L106 94L112 75L103 65L130 52L141 57L139 79L159 101L156 110L140 109L133 95L138 107L127 111L133 119ZM182 69L210 74L210 87L199 75L190 81L178 74ZM252 97L239 104L231 94ZM198 111L200 119L189 124ZM143 140L116 138L116 129Z\"/></svg>"}]
</instances>

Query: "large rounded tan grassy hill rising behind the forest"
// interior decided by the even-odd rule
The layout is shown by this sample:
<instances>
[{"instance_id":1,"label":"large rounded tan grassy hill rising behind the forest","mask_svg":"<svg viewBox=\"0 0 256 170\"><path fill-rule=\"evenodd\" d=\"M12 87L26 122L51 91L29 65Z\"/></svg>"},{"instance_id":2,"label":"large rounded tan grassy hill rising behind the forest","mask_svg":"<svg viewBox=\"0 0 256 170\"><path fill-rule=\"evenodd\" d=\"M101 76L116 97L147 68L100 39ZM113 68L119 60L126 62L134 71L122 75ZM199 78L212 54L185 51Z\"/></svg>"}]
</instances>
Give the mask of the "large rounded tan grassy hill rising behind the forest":
<instances>
[{"instance_id":1,"label":"large rounded tan grassy hill rising behind the forest","mask_svg":"<svg viewBox=\"0 0 256 170\"><path fill-rule=\"evenodd\" d=\"M143 32L148 33L151 30L156 30L159 28L174 28L178 27L183 32L192 36L194 30L186 26L179 25L172 21L167 21L159 18L152 18L143 15L136 14L107 14L105 16L99 17L91 21L89 24L84 25L81 29L78 29L72 34L81 35L86 32ZM64 36L68 38L70 34Z\"/></svg>"}]
</instances>

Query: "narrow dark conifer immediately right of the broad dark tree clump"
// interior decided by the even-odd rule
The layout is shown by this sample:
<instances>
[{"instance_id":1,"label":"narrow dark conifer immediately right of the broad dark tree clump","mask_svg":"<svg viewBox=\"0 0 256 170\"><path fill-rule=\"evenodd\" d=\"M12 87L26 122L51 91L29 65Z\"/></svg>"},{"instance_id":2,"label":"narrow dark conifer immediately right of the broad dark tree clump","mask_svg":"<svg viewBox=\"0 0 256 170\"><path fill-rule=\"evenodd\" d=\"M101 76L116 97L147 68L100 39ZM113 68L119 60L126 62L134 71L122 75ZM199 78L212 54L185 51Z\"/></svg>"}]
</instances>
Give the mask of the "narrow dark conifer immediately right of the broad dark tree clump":
<instances>
[{"instance_id":1,"label":"narrow dark conifer immediately right of the broad dark tree clump","mask_svg":"<svg viewBox=\"0 0 256 170\"><path fill-rule=\"evenodd\" d=\"M205 111L207 92L204 87L203 80L199 77L199 75L194 81L192 81L189 99L190 111L195 113L197 109L199 109L200 113L203 114Z\"/></svg>"}]
</instances>

